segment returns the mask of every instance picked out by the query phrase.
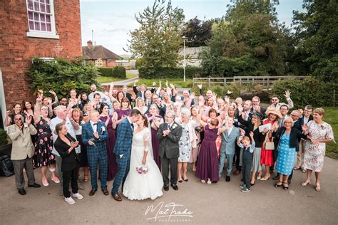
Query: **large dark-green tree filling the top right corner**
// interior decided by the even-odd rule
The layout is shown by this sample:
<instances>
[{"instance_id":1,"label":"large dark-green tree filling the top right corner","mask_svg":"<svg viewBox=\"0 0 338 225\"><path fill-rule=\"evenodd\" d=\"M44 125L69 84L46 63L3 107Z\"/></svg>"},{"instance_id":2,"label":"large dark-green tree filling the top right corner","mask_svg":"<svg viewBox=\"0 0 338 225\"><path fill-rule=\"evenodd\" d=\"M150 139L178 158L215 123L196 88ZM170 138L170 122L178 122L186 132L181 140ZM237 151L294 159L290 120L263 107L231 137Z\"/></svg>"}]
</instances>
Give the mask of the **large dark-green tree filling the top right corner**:
<instances>
[{"instance_id":1,"label":"large dark-green tree filling the top right corner","mask_svg":"<svg viewBox=\"0 0 338 225\"><path fill-rule=\"evenodd\" d=\"M338 2L304 0L304 13L294 11L296 56L304 73L324 81L338 79Z\"/></svg>"}]
</instances>

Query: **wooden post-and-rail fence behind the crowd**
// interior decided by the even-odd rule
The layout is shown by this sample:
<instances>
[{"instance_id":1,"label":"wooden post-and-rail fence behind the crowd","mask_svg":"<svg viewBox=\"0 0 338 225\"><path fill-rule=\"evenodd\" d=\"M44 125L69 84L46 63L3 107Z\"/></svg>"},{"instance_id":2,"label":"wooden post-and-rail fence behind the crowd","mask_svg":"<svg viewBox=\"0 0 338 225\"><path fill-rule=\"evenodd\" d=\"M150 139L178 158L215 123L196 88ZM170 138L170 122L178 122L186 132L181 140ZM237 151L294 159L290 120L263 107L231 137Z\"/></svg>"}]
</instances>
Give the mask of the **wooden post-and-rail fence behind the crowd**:
<instances>
[{"instance_id":1,"label":"wooden post-and-rail fence behind the crowd","mask_svg":"<svg viewBox=\"0 0 338 225\"><path fill-rule=\"evenodd\" d=\"M272 85L276 81L280 80L287 80L287 79L299 79L302 80L306 78L305 75L299 76L287 76L287 75L280 75L280 76L237 76L233 78L193 78L193 87L200 83L208 83L210 85L222 85L225 86L230 83L239 83L242 84L261 84L261 85Z\"/></svg>"}]
</instances>

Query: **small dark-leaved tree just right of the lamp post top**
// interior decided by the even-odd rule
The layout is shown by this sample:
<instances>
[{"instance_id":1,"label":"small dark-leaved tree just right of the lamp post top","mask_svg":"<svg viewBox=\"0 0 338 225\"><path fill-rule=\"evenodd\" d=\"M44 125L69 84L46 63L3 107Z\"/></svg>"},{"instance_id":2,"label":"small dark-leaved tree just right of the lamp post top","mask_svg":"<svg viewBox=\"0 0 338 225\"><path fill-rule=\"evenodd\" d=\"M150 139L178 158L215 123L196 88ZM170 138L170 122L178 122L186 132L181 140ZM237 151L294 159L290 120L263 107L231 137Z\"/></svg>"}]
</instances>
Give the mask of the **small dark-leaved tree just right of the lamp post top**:
<instances>
[{"instance_id":1,"label":"small dark-leaved tree just right of the lamp post top","mask_svg":"<svg viewBox=\"0 0 338 225\"><path fill-rule=\"evenodd\" d=\"M185 23L183 31L183 36L188 39L185 45L188 47L206 46L206 42L211 38L211 26L211 21L201 21L197 16L190 19Z\"/></svg>"}]
</instances>

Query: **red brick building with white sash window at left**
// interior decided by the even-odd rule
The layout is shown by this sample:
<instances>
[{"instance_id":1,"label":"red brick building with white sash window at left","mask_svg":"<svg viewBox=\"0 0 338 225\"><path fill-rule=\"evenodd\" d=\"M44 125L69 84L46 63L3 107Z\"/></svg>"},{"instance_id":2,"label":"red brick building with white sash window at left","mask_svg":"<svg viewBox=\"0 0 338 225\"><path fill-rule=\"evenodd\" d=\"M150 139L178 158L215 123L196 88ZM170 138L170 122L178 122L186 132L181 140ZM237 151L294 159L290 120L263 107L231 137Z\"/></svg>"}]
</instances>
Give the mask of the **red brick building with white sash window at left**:
<instances>
[{"instance_id":1,"label":"red brick building with white sash window at left","mask_svg":"<svg viewBox=\"0 0 338 225\"><path fill-rule=\"evenodd\" d=\"M33 100L25 71L32 58L81 56L79 0L8 0L0 4L0 106Z\"/></svg>"}]
</instances>

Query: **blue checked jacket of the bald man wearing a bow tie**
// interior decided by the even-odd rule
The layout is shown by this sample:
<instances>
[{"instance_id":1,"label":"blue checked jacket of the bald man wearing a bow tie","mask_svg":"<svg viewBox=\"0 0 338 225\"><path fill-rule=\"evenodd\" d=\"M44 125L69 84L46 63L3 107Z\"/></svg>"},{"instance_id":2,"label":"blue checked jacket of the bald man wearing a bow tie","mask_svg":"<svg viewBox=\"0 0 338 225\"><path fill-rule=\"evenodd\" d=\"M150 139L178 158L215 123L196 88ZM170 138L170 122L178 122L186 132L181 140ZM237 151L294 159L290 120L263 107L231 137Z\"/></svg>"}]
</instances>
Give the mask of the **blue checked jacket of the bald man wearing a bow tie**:
<instances>
[{"instance_id":1,"label":"blue checked jacket of the bald man wearing a bow tie","mask_svg":"<svg viewBox=\"0 0 338 225\"><path fill-rule=\"evenodd\" d=\"M89 120L82 126L82 143L87 146L87 150L93 150L97 147L98 150L106 151L106 140L108 140L106 124L102 121L98 121L98 125L96 125L96 132L98 132L99 138L94 137L93 132L91 120ZM95 146L88 144L91 139L94 139Z\"/></svg>"}]
</instances>

